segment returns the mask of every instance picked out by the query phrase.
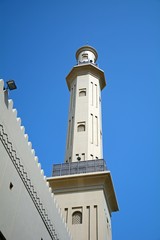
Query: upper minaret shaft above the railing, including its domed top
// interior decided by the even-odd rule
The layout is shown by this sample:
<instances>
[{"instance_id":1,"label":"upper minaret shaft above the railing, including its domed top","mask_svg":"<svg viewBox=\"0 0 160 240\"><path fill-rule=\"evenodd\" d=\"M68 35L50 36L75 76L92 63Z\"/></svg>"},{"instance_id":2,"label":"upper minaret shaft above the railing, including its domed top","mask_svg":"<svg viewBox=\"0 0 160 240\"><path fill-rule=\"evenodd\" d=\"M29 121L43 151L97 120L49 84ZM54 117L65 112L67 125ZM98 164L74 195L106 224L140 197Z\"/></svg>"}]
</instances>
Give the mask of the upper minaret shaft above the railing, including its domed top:
<instances>
[{"instance_id":1,"label":"upper minaret shaft above the railing, including its domed top","mask_svg":"<svg viewBox=\"0 0 160 240\"><path fill-rule=\"evenodd\" d=\"M71 95L65 162L103 158L101 90L106 81L97 58L94 48L81 47L66 77Z\"/></svg>"}]
</instances>

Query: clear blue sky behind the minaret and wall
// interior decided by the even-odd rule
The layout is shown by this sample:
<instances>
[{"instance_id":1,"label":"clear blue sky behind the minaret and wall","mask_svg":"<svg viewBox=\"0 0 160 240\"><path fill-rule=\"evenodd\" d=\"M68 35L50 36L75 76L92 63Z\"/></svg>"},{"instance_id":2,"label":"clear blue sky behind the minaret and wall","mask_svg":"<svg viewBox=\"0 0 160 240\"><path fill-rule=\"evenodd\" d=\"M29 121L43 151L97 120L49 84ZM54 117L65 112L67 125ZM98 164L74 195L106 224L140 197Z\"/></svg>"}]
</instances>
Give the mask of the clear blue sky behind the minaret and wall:
<instances>
[{"instance_id":1,"label":"clear blue sky behind the minaret and wall","mask_svg":"<svg viewBox=\"0 0 160 240\"><path fill-rule=\"evenodd\" d=\"M98 51L113 240L160 240L160 0L0 0L0 78L47 176L64 161L75 52Z\"/></svg>"}]
</instances>

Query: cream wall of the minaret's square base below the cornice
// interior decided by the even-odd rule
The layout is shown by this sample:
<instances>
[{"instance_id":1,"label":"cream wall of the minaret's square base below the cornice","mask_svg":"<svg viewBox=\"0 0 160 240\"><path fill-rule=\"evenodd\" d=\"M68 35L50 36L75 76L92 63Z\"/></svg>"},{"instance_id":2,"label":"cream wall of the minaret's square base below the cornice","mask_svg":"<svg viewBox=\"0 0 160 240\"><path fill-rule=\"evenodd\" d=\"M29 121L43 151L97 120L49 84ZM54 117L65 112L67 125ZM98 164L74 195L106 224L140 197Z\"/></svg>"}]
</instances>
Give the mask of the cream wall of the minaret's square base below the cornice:
<instances>
[{"instance_id":1,"label":"cream wall of the minaret's square base below the cornice","mask_svg":"<svg viewBox=\"0 0 160 240\"><path fill-rule=\"evenodd\" d=\"M103 190L55 194L64 219L76 240L111 240L111 219ZM65 198L65 201L64 201ZM82 224L72 224L72 214L82 212Z\"/></svg>"}]
</instances>

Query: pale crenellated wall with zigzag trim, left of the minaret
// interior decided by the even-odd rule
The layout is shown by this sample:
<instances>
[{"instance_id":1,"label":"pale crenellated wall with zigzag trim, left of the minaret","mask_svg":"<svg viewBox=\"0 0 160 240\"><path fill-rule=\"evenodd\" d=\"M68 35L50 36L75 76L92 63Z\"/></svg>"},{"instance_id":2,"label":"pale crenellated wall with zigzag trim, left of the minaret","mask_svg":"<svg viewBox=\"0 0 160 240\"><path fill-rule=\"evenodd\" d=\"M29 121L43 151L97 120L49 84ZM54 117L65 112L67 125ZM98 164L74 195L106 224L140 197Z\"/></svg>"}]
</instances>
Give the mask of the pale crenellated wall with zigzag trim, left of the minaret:
<instances>
[{"instance_id":1,"label":"pale crenellated wall with zigzag trim, left of the minaret","mask_svg":"<svg viewBox=\"0 0 160 240\"><path fill-rule=\"evenodd\" d=\"M0 80L0 232L7 240L69 240L38 157Z\"/></svg>"}]
</instances>

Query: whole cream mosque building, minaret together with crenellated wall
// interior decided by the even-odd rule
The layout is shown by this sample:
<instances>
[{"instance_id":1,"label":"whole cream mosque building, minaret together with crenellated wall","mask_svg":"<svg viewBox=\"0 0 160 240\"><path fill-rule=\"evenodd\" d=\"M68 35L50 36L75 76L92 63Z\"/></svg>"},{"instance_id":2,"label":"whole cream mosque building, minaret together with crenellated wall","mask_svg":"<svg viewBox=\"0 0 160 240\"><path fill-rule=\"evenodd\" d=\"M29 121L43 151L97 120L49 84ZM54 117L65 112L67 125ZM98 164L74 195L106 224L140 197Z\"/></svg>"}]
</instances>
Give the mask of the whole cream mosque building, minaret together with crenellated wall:
<instances>
[{"instance_id":1,"label":"whole cream mosque building, minaret together with crenellated wall","mask_svg":"<svg viewBox=\"0 0 160 240\"><path fill-rule=\"evenodd\" d=\"M104 72L91 46L76 52L64 162L46 178L13 101L0 80L0 240L111 240L119 210L103 158ZM10 82L14 87L14 82Z\"/></svg>"}]
</instances>

